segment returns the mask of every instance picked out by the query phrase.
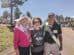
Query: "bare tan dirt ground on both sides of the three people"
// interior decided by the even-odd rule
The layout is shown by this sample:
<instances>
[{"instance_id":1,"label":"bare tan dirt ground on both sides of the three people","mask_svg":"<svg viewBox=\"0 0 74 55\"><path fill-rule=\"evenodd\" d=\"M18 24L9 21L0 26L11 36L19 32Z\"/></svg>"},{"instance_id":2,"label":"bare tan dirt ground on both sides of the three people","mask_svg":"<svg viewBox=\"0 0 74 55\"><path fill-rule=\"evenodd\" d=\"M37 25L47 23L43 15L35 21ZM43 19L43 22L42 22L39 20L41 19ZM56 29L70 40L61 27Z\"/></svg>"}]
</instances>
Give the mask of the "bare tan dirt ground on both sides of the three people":
<instances>
[{"instance_id":1,"label":"bare tan dirt ground on both sides of the three people","mask_svg":"<svg viewBox=\"0 0 74 55\"><path fill-rule=\"evenodd\" d=\"M74 55L74 30L71 28L62 28L63 31L63 51L62 55ZM0 55L15 55L12 48L7 49L0 53Z\"/></svg>"}]
</instances>

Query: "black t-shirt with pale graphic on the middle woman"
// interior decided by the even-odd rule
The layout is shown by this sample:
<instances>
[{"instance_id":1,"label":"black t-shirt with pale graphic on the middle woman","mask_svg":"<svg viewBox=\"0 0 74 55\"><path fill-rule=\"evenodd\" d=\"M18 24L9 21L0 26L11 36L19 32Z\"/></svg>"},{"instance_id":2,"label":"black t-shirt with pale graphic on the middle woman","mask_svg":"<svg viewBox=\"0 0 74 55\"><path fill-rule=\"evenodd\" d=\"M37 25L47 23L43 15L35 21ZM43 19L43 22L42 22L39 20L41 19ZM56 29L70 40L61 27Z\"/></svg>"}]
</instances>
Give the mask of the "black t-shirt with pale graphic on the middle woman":
<instances>
[{"instance_id":1,"label":"black t-shirt with pale graphic on the middle woman","mask_svg":"<svg viewBox=\"0 0 74 55\"><path fill-rule=\"evenodd\" d=\"M42 46L43 45L43 30L40 31L36 31L36 30L32 30L32 45L33 46Z\"/></svg>"}]
</instances>

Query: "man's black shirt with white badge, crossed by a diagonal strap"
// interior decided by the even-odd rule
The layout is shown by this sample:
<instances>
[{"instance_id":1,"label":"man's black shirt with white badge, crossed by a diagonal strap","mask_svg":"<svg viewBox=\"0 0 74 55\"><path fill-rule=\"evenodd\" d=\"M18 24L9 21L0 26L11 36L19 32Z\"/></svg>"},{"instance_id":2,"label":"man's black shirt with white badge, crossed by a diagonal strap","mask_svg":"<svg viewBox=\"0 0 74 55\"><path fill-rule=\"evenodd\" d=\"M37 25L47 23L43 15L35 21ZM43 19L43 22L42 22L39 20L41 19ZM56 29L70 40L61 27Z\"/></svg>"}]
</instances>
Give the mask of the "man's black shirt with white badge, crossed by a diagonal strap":
<instances>
[{"instance_id":1,"label":"man's black shirt with white badge, crossed by a diagonal strap","mask_svg":"<svg viewBox=\"0 0 74 55\"><path fill-rule=\"evenodd\" d=\"M49 28L53 32L53 34L55 35L56 38L58 37L57 36L58 34L62 33L60 24L58 24L56 22L51 27L49 27ZM44 42L48 42L50 44L56 43L53 40L52 36L50 35L50 33L47 30L45 31Z\"/></svg>"}]
</instances>

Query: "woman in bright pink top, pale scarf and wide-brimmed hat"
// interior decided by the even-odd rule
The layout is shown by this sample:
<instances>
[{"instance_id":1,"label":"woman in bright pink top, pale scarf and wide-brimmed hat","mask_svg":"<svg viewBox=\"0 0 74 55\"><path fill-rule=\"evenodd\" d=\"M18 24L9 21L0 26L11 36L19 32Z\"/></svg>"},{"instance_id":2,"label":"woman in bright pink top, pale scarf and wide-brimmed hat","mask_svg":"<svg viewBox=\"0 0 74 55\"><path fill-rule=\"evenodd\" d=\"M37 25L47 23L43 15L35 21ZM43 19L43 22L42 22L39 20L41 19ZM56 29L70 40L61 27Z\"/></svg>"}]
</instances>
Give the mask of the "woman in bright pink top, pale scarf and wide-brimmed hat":
<instances>
[{"instance_id":1,"label":"woman in bright pink top, pale scarf and wide-brimmed hat","mask_svg":"<svg viewBox=\"0 0 74 55\"><path fill-rule=\"evenodd\" d=\"M15 20L13 32L13 45L16 55L29 55L31 31L29 30L29 18L26 16Z\"/></svg>"}]
</instances>

